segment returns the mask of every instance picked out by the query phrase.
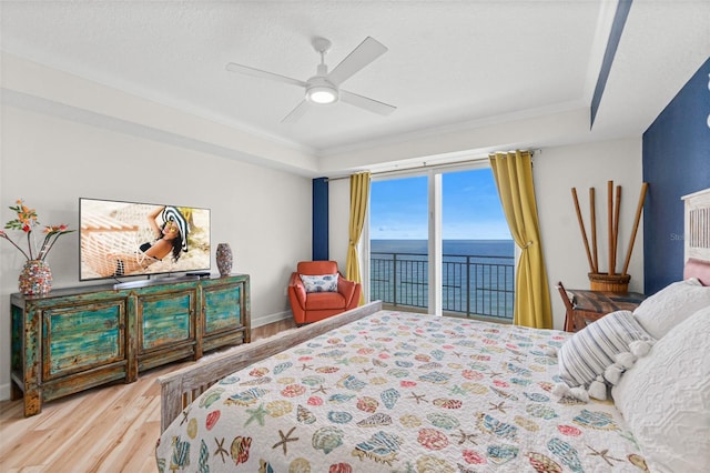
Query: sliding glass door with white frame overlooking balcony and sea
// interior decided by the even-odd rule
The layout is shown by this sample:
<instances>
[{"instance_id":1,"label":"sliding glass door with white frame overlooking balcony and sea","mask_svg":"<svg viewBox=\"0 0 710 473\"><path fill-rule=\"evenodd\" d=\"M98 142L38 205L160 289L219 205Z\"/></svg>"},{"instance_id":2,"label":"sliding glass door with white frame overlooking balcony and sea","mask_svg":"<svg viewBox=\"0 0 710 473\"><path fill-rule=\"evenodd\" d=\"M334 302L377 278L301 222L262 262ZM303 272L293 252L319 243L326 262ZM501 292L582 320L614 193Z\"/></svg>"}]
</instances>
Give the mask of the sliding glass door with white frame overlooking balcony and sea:
<instances>
[{"instance_id":1,"label":"sliding glass door with white frame overlooking balcony and sea","mask_svg":"<svg viewBox=\"0 0 710 473\"><path fill-rule=\"evenodd\" d=\"M373 179L371 300L511 319L514 251L487 165Z\"/></svg>"}]
</instances>

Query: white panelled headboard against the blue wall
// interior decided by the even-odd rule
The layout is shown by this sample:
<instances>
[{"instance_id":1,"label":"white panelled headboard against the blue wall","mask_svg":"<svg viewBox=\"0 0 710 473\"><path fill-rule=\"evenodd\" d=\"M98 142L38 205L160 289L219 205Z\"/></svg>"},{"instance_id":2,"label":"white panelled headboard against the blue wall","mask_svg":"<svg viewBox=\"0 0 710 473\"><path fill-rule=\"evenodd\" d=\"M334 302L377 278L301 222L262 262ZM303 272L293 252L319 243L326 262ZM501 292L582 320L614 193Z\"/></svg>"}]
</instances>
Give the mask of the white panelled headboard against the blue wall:
<instances>
[{"instance_id":1,"label":"white panelled headboard against the blue wall","mask_svg":"<svg viewBox=\"0 0 710 473\"><path fill-rule=\"evenodd\" d=\"M698 278L710 285L710 188L684 195L683 279Z\"/></svg>"}]
</instances>

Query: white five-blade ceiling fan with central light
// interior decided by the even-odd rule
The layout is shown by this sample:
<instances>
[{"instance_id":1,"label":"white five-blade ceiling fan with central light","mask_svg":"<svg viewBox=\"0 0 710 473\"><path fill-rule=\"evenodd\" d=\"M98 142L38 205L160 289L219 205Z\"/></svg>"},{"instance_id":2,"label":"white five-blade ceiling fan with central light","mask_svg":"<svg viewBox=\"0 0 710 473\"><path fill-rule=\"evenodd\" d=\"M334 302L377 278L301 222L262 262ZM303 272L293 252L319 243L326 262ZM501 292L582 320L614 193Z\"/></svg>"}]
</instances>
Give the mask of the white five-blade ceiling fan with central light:
<instances>
[{"instance_id":1,"label":"white five-blade ceiling fan with central light","mask_svg":"<svg viewBox=\"0 0 710 473\"><path fill-rule=\"evenodd\" d=\"M314 38L312 44L313 49L321 54L321 63L317 67L316 74L307 81L292 79L273 72L250 68L248 66L236 64L234 62L227 63L226 70L304 88L305 98L282 120L284 123L295 122L298 120L308 110L311 104L326 105L335 103L338 100L382 115L387 115L397 109L396 107L387 103L341 89L341 84L343 82L387 52L387 48L379 41L371 37L365 38L365 40L359 43L359 46L345 59L343 59L343 61L329 73L328 67L325 64L325 53L331 49L331 41L325 38Z\"/></svg>"}]
</instances>

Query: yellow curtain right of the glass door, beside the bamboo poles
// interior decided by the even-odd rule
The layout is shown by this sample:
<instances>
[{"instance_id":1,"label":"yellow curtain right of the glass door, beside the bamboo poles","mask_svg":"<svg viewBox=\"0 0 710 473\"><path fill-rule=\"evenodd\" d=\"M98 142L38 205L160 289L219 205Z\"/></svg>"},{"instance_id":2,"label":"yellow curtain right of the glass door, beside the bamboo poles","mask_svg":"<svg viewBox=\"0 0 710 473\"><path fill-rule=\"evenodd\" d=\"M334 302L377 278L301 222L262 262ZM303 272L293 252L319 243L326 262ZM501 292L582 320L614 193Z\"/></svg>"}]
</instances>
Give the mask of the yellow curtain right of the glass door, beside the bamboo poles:
<instances>
[{"instance_id":1,"label":"yellow curtain right of the glass door, beside the bamboo poles","mask_svg":"<svg viewBox=\"0 0 710 473\"><path fill-rule=\"evenodd\" d=\"M551 329L552 311L540 243L530 152L495 153L489 158L510 233L521 250L513 321L516 325Z\"/></svg>"}]
</instances>

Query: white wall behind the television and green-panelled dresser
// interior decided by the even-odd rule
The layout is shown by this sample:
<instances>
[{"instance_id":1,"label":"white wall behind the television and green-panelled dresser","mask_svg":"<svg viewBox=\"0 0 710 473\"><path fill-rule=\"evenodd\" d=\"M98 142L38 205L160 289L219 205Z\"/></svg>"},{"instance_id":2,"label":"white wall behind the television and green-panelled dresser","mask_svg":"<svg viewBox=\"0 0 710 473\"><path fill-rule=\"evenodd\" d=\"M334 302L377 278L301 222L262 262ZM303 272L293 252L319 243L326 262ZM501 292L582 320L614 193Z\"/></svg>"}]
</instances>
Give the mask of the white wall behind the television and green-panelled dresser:
<instances>
[{"instance_id":1,"label":"white wall behind the television and green-panelled dresser","mask_svg":"<svg viewBox=\"0 0 710 473\"><path fill-rule=\"evenodd\" d=\"M311 179L7 104L0 131L3 225L19 198L42 224L72 229L79 197L209 208L212 244L229 242L233 272L251 275L254 324L288 311L288 275L311 258ZM78 246L70 233L50 253L54 288L80 285ZM21 254L0 242L0 399L9 396L9 294L18 290L22 264Z\"/></svg>"}]
</instances>

